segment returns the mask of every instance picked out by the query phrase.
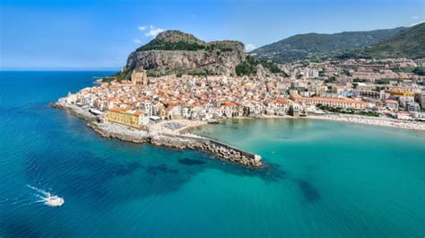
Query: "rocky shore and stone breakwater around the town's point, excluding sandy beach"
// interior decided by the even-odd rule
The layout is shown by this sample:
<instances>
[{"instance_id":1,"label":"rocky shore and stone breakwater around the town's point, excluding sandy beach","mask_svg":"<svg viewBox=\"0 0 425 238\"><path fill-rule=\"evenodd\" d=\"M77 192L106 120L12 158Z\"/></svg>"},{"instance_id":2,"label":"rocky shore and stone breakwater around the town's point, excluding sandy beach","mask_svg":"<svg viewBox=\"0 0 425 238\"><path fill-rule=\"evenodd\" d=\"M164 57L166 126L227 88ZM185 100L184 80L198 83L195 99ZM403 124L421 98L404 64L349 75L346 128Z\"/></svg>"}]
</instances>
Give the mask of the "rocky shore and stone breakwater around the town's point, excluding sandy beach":
<instances>
[{"instance_id":1,"label":"rocky shore and stone breakwater around the town's point, excluding sandy beach","mask_svg":"<svg viewBox=\"0 0 425 238\"><path fill-rule=\"evenodd\" d=\"M178 150L193 149L212 153L215 157L232 163L239 163L246 167L258 168L264 166L262 158L258 154L252 154L227 145L217 140L207 137L199 137L192 134L179 134L179 131L203 125L204 123L187 123L185 127L172 131L169 128L161 127L161 124L154 125L148 130L130 128L124 125L110 122L99 122L97 117L92 115L88 109L83 109L77 105L67 103L60 99L50 103L51 107L66 110L69 114L88 121L87 126L98 132L102 137L117 138L122 141L133 143L150 143L152 145L167 146ZM169 121L168 121L169 123ZM177 123L177 122L176 122ZM178 121L181 123L181 121Z\"/></svg>"}]
</instances>

